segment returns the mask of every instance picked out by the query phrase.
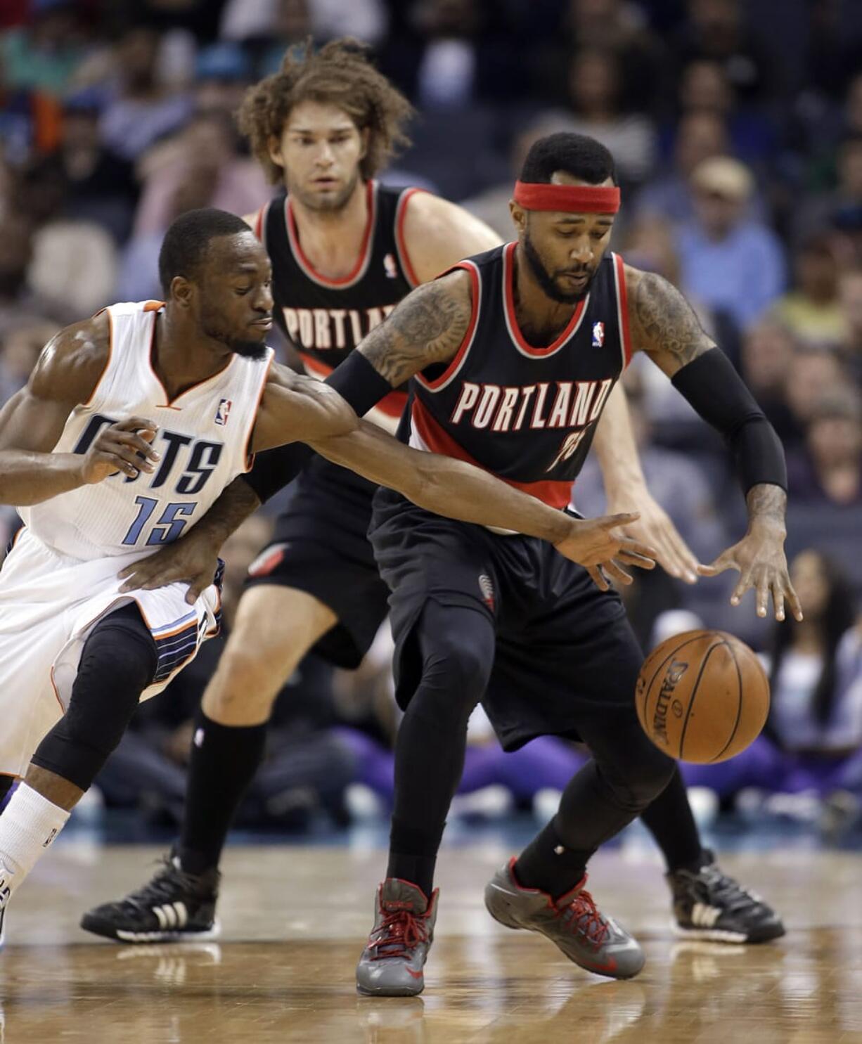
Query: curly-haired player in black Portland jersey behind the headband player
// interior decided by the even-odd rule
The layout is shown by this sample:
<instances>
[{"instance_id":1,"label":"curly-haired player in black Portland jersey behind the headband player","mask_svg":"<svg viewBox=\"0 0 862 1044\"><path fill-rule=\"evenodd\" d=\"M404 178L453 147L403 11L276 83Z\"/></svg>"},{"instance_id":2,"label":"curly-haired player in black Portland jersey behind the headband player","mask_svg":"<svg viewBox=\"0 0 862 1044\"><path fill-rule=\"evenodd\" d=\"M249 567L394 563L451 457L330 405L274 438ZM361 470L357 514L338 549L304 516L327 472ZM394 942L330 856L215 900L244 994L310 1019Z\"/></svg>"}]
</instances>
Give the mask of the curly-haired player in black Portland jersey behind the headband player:
<instances>
[{"instance_id":1,"label":"curly-haired player in black Portland jersey behind the headband player","mask_svg":"<svg viewBox=\"0 0 862 1044\"><path fill-rule=\"evenodd\" d=\"M282 72L254 89L243 106L241 123L256 156L289 192L246 220L272 259L276 318L304 367L317 376L348 358L414 285L497 245L495 234L460 208L427 192L396 191L374 181L402 137L407 112L398 92L344 42L303 61L288 57ZM339 390L351 398L352 389ZM368 416L388 427L397 423L406 396L387 390ZM596 450L609 503L639 511L631 535L655 547L673 575L693 580L694 556L643 484L622 389L610 390L602 401L605 416ZM286 481L273 481L273 470L280 469L270 468L254 482L261 499ZM287 466L281 470L289 473ZM158 586L196 573L196 583L209 583L226 530L259 503L247 487L243 499L243 485L232 489L236 501L225 504L223 525L208 518L193 540L160 554L133 582ZM122 932L128 941L136 934L151 939L159 923L150 907L163 903L167 892L197 910L184 934L211 927L216 867L235 809L262 757L276 694L312 647L340 666L358 665L385 617L389 592L365 536L373 488L318 458L296 487L273 542L252 568L250 590L203 697L197 722L203 741L192 750L174 862L157 878L152 902L145 886L127 902L88 915L83 925L91 930L113 938ZM681 928L697 930L692 911L709 896L722 911L720 927L728 941L781 933L772 911L737 888L702 851L678 774L644 820L665 852Z\"/></svg>"}]
</instances>

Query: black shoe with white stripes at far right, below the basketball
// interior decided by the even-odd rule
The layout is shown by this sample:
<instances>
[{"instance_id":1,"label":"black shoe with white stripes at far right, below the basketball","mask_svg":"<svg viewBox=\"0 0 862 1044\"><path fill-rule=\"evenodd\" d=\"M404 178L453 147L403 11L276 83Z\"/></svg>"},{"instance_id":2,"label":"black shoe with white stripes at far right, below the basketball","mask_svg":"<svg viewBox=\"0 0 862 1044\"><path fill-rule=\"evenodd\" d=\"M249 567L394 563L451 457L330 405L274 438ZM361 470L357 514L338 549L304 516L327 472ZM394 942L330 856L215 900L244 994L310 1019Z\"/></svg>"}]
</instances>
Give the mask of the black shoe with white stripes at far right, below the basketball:
<instances>
[{"instance_id":1,"label":"black shoe with white stripes at far right, below the basketball","mask_svg":"<svg viewBox=\"0 0 862 1044\"><path fill-rule=\"evenodd\" d=\"M678 935L718 943L766 943L784 934L777 914L758 895L722 873L710 851L695 874L668 874Z\"/></svg>"}]
</instances>

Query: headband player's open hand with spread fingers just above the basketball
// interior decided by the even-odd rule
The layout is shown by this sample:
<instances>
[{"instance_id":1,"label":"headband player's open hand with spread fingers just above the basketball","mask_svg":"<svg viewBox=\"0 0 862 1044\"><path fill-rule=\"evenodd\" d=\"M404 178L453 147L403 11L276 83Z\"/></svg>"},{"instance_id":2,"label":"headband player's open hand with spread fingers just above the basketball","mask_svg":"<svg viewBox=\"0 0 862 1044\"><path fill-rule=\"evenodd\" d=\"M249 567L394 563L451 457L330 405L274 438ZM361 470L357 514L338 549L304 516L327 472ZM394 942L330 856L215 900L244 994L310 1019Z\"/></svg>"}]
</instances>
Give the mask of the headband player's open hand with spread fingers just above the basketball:
<instances>
[{"instance_id":1,"label":"headband player's open hand with spread fingers just above the basketball","mask_svg":"<svg viewBox=\"0 0 862 1044\"><path fill-rule=\"evenodd\" d=\"M722 551L715 562L697 567L701 576L718 576L726 569L739 571L739 583L731 595L732 606L738 606L745 592L753 588L758 616L766 616L771 592L776 620L784 619L785 599L793 616L803 619L803 607L787 569L783 532L752 526L739 543Z\"/></svg>"}]
</instances>

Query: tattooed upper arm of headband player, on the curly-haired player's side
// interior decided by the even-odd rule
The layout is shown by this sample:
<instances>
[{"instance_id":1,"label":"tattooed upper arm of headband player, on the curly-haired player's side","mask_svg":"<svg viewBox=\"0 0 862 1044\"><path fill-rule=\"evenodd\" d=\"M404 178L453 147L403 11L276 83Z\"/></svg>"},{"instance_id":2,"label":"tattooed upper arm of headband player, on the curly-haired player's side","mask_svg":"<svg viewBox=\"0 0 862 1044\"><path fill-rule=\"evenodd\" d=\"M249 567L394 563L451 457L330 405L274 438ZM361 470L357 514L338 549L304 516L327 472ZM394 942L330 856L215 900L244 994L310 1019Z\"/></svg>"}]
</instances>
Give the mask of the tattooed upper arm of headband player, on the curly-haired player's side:
<instances>
[{"instance_id":1,"label":"tattooed upper arm of headband player, on the curly-haired player's side","mask_svg":"<svg viewBox=\"0 0 862 1044\"><path fill-rule=\"evenodd\" d=\"M470 326L471 303L451 278L425 283L359 346L392 387L433 362L448 362Z\"/></svg>"}]
</instances>

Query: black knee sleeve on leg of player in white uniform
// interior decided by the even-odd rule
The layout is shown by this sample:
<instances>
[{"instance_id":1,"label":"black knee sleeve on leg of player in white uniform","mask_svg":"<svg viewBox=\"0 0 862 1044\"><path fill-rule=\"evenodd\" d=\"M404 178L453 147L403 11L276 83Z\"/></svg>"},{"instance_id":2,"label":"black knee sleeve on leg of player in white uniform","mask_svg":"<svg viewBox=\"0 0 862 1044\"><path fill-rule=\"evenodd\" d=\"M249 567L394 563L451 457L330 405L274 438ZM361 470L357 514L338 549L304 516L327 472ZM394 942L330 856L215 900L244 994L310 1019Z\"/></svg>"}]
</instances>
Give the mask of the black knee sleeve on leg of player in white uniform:
<instances>
[{"instance_id":1,"label":"black knee sleeve on leg of player in white uniform","mask_svg":"<svg viewBox=\"0 0 862 1044\"><path fill-rule=\"evenodd\" d=\"M69 709L32 763L86 790L120 742L158 659L137 606L100 620L85 643Z\"/></svg>"}]
</instances>

